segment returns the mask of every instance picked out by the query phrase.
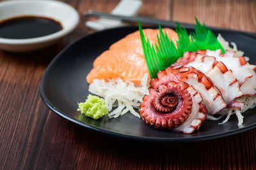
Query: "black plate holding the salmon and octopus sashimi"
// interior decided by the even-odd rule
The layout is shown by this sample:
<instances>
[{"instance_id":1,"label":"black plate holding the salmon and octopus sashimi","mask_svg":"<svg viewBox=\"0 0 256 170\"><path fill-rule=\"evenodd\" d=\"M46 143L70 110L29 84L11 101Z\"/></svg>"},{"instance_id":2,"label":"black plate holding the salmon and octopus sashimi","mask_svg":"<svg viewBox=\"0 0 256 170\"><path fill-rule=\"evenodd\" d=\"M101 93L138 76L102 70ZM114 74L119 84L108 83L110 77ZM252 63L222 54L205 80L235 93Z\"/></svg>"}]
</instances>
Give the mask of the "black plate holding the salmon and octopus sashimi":
<instances>
[{"instance_id":1,"label":"black plate holding the salmon and octopus sashimi","mask_svg":"<svg viewBox=\"0 0 256 170\"><path fill-rule=\"evenodd\" d=\"M77 102L83 102L88 96L86 75L93 67L93 60L109 46L127 34L138 30L138 27L120 27L95 32L77 40L52 60L47 67L40 85L40 93L44 103L61 117L83 127L104 132L114 136L145 141L202 141L221 138L256 127L255 109L244 115L244 123L237 127L237 118L232 116L223 125L219 121L205 120L199 131L193 134L182 134L172 131L156 130L131 114L122 117L93 120L77 111ZM256 39L235 31L215 31L221 33L227 41L236 42L239 50L250 56L250 63L256 64Z\"/></svg>"}]
</instances>

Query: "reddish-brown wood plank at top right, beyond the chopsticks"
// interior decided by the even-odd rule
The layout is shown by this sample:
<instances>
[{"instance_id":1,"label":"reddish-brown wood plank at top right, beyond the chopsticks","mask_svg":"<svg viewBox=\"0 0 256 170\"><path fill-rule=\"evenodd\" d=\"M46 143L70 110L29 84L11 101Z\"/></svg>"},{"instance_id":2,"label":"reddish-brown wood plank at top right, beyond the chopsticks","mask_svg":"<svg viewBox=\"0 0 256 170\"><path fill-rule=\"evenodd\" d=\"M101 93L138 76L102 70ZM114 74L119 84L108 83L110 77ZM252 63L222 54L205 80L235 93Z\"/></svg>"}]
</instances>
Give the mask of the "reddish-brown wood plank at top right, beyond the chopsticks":
<instances>
[{"instance_id":1,"label":"reddish-brown wood plank at top right, beyond the chopsticks","mask_svg":"<svg viewBox=\"0 0 256 170\"><path fill-rule=\"evenodd\" d=\"M195 23L195 17L206 25L241 31L256 31L256 1L248 0L173 0L172 19Z\"/></svg>"}]
</instances>

